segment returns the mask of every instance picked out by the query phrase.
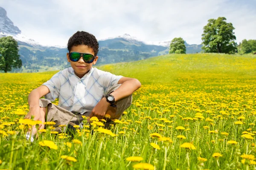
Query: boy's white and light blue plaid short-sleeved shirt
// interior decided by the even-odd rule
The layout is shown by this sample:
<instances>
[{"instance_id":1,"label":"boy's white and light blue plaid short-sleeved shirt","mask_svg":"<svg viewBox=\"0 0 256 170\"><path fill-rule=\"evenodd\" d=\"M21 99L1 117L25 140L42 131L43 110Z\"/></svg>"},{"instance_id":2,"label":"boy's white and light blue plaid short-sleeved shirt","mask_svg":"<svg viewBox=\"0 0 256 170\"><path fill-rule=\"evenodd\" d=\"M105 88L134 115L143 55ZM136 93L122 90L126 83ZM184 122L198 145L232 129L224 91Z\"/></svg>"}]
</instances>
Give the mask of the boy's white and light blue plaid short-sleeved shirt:
<instances>
[{"instance_id":1,"label":"boy's white and light blue plaid short-sleeved shirt","mask_svg":"<svg viewBox=\"0 0 256 170\"><path fill-rule=\"evenodd\" d=\"M117 85L121 78L122 76L91 68L80 79L72 67L66 68L43 84L50 90L45 98L51 101L58 98L58 105L70 112L92 111L102 96L106 95L113 85Z\"/></svg>"}]
</instances>

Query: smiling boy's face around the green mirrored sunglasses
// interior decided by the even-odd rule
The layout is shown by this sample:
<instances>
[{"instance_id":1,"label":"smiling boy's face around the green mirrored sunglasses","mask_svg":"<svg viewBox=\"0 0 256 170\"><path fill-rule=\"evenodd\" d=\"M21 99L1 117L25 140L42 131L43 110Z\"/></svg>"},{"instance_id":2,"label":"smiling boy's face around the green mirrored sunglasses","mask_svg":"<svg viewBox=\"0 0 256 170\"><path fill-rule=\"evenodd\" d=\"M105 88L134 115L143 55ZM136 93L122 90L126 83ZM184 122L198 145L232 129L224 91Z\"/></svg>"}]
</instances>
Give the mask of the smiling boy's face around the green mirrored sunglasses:
<instances>
[{"instance_id":1,"label":"smiling boy's face around the green mirrored sunglasses","mask_svg":"<svg viewBox=\"0 0 256 170\"><path fill-rule=\"evenodd\" d=\"M87 45L77 45L73 46L70 50L71 52L80 52L80 53L89 53L93 54L93 48L89 48ZM71 67L74 69L76 75L81 79L84 74L86 74L88 71L90 71L90 68L96 64L98 60L98 56L95 57L92 63L86 63L84 62L83 57L80 57L80 59L77 62L73 62L69 58L69 53L67 53L67 61L70 62Z\"/></svg>"}]
</instances>

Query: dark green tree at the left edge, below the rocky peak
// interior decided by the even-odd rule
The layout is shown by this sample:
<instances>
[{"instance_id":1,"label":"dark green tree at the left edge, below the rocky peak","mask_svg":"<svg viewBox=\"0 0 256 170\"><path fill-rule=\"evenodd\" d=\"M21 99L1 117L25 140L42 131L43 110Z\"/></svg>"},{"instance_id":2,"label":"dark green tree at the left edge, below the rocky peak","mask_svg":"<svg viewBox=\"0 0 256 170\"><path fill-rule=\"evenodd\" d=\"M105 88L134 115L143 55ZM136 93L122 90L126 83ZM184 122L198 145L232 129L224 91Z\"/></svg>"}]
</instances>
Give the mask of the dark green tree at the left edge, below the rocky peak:
<instances>
[{"instance_id":1,"label":"dark green tree at the left edge, below the rocky peak","mask_svg":"<svg viewBox=\"0 0 256 170\"><path fill-rule=\"evenodd\" d=\"M11 36L0 38L0 70L7 73L12 68L21 68L18 43Z\"/></svg>"}]
</instances>

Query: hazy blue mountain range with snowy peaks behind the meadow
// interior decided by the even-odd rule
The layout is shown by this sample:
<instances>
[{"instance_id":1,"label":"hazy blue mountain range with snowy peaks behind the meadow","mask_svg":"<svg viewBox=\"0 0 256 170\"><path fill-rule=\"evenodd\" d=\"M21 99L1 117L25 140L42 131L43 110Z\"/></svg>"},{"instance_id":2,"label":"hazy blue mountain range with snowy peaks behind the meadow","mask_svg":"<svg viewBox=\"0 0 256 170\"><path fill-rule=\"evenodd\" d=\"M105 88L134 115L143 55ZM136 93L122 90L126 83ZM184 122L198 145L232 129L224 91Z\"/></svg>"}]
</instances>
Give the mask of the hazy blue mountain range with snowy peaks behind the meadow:
<instances>
[{"instance_id":1,"label":"hazy blue mountain range with snowy peaks behind the meadow","mask_svg":"<svg viewBox=\"0 0 256 170\"><path fill-rule=\"evenodd\" d=\"M43 46L22 34L22 31L7 17L7 12L0 7L0 37L12 36L19 45L22 68L12 72L38 72L60 70L70 66L67 62L67 48ZM169 43L143 42L129 34L99 40L99 60L97 65L116 62L129 62L169 53ZM187 53L201 51L200 45L187 46Z\"/></svg>"}]
</instances>

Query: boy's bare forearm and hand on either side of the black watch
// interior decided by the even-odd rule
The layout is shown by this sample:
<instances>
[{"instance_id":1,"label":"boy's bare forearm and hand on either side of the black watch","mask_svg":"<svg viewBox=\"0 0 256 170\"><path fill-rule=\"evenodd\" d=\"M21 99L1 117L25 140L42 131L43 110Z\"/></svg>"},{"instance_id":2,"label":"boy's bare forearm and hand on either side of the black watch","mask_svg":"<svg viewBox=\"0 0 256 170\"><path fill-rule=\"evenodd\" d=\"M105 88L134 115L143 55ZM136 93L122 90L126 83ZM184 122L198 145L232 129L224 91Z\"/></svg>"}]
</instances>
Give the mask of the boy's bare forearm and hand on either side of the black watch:
<instances>
[{"instance_id":1,"label":"boy's bare forearm and hand on either side of the black watch","mask_svg":"<svg viewBox=\"0 0 256 170\"><path fill-rule=\"evenodd\" d=\"M115 101L130 96L131 94L133 94L134 91L136 91L141 86L139 80L129 77L122 77L121 79L119 79L117 84L122 85L120 85L119 88L117 88L113 93L111 93L111 95L114 96ZM99 119L103 119L108 109L108 106L110 105L111 104L107 102L106 98L103 97L93 108L92 112L90 113L90 117L96 116Z\"/></svg>"}]
</instances>

